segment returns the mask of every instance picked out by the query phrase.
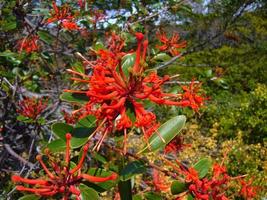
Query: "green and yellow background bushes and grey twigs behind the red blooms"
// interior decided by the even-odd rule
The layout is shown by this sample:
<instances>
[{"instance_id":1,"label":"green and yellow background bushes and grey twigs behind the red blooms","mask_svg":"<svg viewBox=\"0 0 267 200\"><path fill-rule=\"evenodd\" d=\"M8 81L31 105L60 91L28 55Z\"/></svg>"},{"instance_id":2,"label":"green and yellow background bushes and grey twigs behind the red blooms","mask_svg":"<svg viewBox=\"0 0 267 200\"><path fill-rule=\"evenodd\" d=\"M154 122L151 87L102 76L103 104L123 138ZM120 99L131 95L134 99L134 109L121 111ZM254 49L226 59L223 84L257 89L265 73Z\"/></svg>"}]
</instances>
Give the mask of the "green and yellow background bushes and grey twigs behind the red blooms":
<instances>
[{"instance_id":1,"label":"green and yellow background bushes and grey twigs behind the red blooms","mask_svg":"<svg viewBox=\"0 0 267 200\"><path fill-rule=\"evenodd\" d=\"M62 2L79 10L75 1ZM209 97L198 113L154 106L162 120L184 112L189 118L182 138L190 148L185 145L179 158L190 163L204 156L220 161L227 153L230 174L249 174L261 188L260 197L267 198L266 1L99 0L88 5L90 9L78 15L82 32L58 34L43 25L51 1L0 1L0 198L20 196L12 191L10 175L31 172L26 169L31 169L39 148L53 139L50 125L63 119L62 109L70 110L59 96L71 84L65 70L81 65L75 52L90 57L90 48L104 43L105 32L127 35L129 29L145 32L152 43L157 43L154 33L159 29L170 35L179 32L188 44L183 57L167 65L171 57L164 54L153 67L159 74L180 75L170 87L195 77ZM94 23L91 8L106 17ZM18 40L31 31L39 36L42 51L19 53ZM17 119L22 96L49 97L38 125ZM34 134L37 129L41 134ZM29 162L18 162L16 155Z\"/></svg>"}]
</instances>

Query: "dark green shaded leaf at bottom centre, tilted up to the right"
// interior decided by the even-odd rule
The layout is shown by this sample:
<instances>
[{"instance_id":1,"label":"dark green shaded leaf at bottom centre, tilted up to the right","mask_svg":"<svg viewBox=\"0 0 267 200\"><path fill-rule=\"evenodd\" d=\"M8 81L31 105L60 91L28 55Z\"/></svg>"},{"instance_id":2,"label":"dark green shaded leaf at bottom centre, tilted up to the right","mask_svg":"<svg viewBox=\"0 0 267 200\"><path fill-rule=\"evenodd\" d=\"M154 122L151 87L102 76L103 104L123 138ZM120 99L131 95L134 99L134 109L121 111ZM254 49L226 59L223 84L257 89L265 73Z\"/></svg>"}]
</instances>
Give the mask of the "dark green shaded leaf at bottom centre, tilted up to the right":
<instances>
[{"instance_id":1,"label":"dark green shaded leaf at bottom centre, tilted up to the right","mask_svg":"<svg viewBox=\"0 0 267 200\"><path fill-rule=\"evenodd\" d=\"M146 171L145 163L142 161L133 161L126 165L122 171L120 179L122 181L127 181L131 179L136 174L141 174Z\"/></svg>"}]
</instances>

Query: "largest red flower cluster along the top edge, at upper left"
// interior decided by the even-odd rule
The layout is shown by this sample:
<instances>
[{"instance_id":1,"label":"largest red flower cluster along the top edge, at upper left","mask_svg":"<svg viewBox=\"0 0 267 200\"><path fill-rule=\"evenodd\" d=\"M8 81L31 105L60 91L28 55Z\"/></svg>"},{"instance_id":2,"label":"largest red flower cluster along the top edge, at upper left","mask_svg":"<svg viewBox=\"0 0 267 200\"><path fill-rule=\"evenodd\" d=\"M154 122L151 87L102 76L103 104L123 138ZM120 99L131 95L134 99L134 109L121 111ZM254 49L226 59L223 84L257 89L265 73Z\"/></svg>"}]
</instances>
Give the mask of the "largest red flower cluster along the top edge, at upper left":
<instances>
[{"instance_id":1,"label":"largest red flower cluster along the top edge, at upper left","mask_svg":"<svg viewBox=\"0 0 267 200\"><path fill-rule=\"evenodd\" d=\"M74 16L70 11L70 7L65 4L61 8L53 1L53 11L50 12L51 17L46 20L47 24L59 22L59 25L67 30L78 30L78 25L74 22Z\"/></svg>"}]
</instances>

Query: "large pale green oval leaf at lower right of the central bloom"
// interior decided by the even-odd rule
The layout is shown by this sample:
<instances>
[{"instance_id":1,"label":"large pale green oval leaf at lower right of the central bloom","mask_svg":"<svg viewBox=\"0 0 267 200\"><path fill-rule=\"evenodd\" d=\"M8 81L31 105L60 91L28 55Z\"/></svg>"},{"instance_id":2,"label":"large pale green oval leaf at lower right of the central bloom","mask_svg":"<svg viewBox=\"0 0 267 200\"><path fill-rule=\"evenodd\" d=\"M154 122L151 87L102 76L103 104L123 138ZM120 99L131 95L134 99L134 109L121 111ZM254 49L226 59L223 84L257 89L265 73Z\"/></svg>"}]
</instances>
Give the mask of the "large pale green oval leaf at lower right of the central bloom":
<instances>
[{"instance_id":1,"label":"large pale green oval leaf at lower right of the central bloom","mask_svg":"<svg viewBox=\"0 0 267 200\"><path fill-rule=\"evenodd\" d=\"M148 152L149 150L156 151L166 146L175 136L179 134L185 125L185 121L186 117L184 115L179 115L162 124L158 130L150 136L148 139L149 145L146 145L141 152Z\"/></svg>"}]
</instances>

